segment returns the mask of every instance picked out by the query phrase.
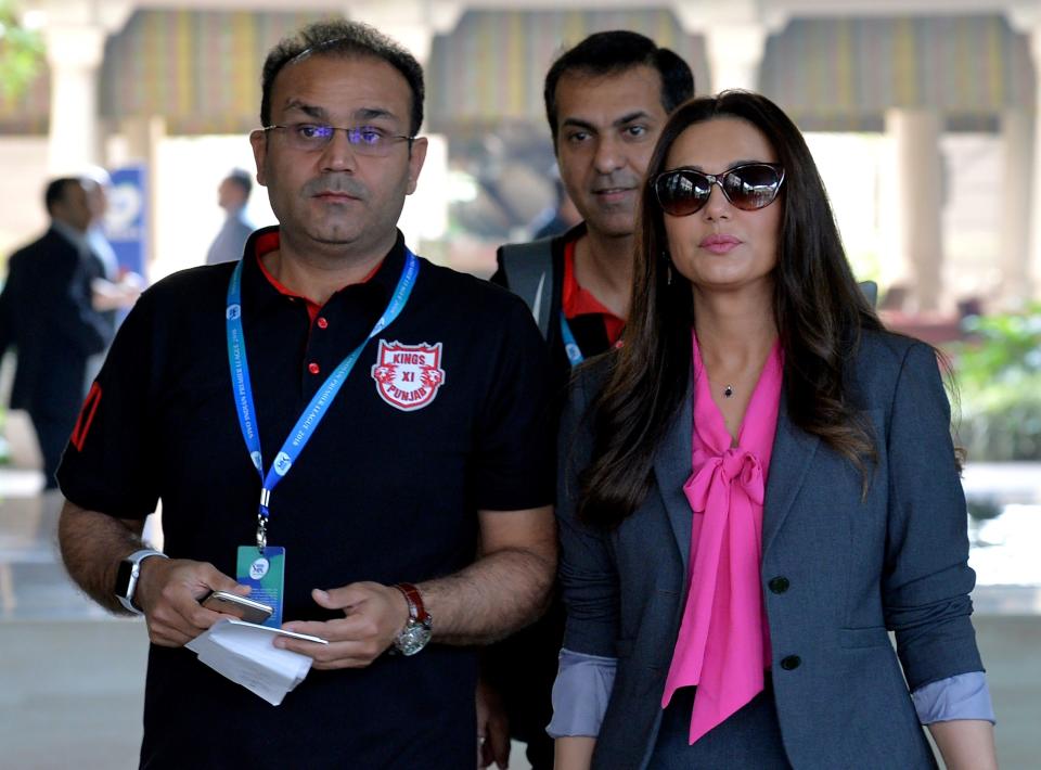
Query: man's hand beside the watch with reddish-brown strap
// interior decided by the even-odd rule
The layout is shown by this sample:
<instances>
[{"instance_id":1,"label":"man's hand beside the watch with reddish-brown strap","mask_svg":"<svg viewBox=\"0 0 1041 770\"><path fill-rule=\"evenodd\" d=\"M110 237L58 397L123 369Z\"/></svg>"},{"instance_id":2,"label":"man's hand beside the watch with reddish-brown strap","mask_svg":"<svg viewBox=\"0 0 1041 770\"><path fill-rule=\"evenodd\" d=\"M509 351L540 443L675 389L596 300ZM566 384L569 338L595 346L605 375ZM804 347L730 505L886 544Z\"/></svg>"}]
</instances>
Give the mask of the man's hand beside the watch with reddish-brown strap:
<instances>
[{"instance_id":1,"label":"man's hand beside the watch with reddish-brown strap","mask_svg":"<svg viewBox=\"0 0 1041 770\"><path fill-rule=\"evenodd\" d=\"M364 668L390 646L409 620L409 603L396 588L378 582L354 582L329 591L311 591L314 602L326 609L343 609L333 620L294 620L282 625L287 631L321 637L329 644L279 637L274 644L314 659L314 668Z\"/></svg>"}]
</instances>

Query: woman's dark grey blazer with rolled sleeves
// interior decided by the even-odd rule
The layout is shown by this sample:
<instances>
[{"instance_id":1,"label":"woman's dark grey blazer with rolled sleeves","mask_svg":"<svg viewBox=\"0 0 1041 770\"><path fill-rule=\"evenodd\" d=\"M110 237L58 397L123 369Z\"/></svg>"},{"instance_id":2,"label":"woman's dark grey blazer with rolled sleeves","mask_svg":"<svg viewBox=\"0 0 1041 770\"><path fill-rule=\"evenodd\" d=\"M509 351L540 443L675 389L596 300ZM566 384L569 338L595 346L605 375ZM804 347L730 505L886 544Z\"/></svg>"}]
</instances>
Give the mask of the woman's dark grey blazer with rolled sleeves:
<instances>
[{"instance_id":1,"label":"woman's dark grey blazer with rolled sleeves","mask_svg":"<svg viewBox=\"0 0 1041 770\"><path fill-rule=\"evenodd\" d=\"M950 408L931 349L914 341L866 333L848 371L876 437L866 498L859 471L797 428L782 395L760 573L781 732L798 769L931 768L909 685L982 670ZM692 410L687 397L644 502L601 531L575 508L592 440L582 418L602 378L578 378L561 428L564 646L618 658L593 767L634 770L654 747L686 598Z\"/></svg>"}]
</instances>

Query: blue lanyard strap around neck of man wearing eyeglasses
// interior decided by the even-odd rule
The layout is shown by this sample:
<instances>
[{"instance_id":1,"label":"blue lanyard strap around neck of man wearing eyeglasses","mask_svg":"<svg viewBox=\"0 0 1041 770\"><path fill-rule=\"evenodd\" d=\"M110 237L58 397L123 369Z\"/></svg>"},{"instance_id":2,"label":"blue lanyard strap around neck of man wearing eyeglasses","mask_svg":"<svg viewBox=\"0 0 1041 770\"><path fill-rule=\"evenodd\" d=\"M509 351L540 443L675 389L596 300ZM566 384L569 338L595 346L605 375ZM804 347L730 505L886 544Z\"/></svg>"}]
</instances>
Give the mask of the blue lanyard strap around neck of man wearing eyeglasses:
<instances>
[{"instance_id":1,"label":"blue lanyard strap around neck of man wearing eyeglasses","mask_svg":"<svg viewBox=\"0 0 1041 770\"><path fill-rule=\"evenodd\" d=\"M246 361L246 338L242 331L242 260L235 266L231 274L231 281L228 283L228 309L224 313L228 320L228 362L231 365L231 385L235 399L235 408L239 411L239 427L242 428L242 437L246 441L246 449L249 451L249 459L260 474L260 511L257 514L257 548L261 551L267 546L268 517L271 515L269 506L271 504L271 492L282 478L290 472L293 463L304 451L304 447L310 439L314 428L325 416L325 410L340 386L355 368L361 351L369 341L386 329L404 309L409 301L409 295L415 285L416 275L420 272L420 260L408 248L404 249L404 267L401 270L401 278L398 279L398 285L394 290L390 303L387 309L380 316L376 325L369 332L361 345L356 347L339 365L330 374L322 386L318 389L310 403L296 421L296 425L290 431L282 450L275 455L274 462L264 472L264 460L260 454L260 434L256 422L256 409L253 405L253 387L249 384L249 364Z\"/></svg>"}]
</instances>

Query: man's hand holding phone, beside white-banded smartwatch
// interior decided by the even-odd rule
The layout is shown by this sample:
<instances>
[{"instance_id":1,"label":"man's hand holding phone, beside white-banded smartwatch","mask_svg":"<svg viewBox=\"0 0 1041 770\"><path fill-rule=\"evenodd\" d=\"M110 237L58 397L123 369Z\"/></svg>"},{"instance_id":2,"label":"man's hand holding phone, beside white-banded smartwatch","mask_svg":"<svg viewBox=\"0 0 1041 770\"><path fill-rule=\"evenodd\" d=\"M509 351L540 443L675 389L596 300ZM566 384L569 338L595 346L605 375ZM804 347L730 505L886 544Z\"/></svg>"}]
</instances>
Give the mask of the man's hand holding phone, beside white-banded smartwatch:
<instances>
[{"instance_id":1,"label":"man's hand holding phone, beside white-banded smartwatch","mask_svg":"<svg viewBox=\"0 0 1041 770\"><path fill-rule=\"evenodd\" d=\"M152 643L164 647L183 646L226 617L198 603L210 591L245 595L249 587L240 586L204 562L158 557L141 562L134 601L144 611Z\"/></svg>"}]
</instances>

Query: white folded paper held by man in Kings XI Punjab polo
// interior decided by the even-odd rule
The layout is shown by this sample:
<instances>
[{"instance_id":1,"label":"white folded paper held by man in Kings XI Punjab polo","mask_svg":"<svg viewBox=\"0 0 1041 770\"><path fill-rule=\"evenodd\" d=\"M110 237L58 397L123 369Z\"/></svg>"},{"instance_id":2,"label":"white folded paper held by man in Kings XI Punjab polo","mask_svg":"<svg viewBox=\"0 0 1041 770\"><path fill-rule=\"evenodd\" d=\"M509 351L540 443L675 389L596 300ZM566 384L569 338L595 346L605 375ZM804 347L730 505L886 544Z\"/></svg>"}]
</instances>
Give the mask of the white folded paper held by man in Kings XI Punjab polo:
<instances>
[{"instance_id":1,"label":"white folded paper held by man in Kings XI Punjab polo","mask_svg":"<svg viewBox=\"0 0 1041 770\"><path fill-rule=\"evenodd\" d=\"M278 706L311 669L307 655L272 644L280 633L278 628L229 618L215 623L187 646L218 673Z\"/></svg>"}]
</instances>

